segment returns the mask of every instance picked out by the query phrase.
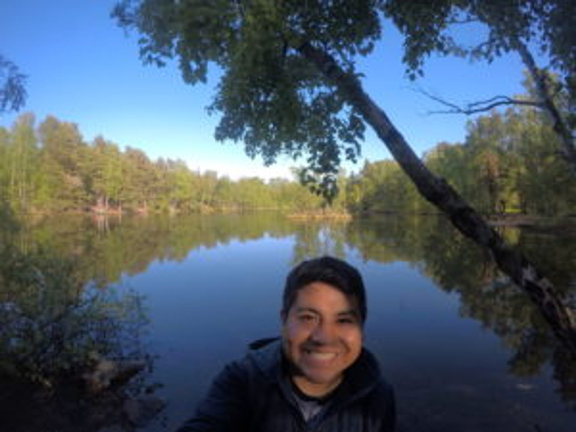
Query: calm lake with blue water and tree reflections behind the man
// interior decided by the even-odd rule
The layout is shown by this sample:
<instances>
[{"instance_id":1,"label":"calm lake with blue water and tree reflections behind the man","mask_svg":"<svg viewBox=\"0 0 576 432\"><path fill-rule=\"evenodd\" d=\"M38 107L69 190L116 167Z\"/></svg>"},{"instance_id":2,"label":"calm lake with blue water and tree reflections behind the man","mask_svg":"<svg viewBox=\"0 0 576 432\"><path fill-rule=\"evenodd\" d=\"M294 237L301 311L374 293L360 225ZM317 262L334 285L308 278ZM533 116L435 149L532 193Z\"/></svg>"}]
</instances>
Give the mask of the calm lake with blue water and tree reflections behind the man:
<instances>
[{"instance_id":1,"label":"calm lake with blue water and tree reflections behind the man","mask_svg":"<svg viewBox=\"0 0 576 432\"><path fill-rule=\"evenodd\" d=\"M139 391L168 402L138 430L174 430L226 362L278 335L287 272L325 254L365 279L366 346L395 387L400 431L576 430L576 367L526 295L440 217L311 222L255 213L29 225L21 248L73 259L86 286L114 293L105 307L137 304L137 325L119 314L114 337L149 361ZM503 235L576 299L574 232Z\"/></svg>"}]
</instances>

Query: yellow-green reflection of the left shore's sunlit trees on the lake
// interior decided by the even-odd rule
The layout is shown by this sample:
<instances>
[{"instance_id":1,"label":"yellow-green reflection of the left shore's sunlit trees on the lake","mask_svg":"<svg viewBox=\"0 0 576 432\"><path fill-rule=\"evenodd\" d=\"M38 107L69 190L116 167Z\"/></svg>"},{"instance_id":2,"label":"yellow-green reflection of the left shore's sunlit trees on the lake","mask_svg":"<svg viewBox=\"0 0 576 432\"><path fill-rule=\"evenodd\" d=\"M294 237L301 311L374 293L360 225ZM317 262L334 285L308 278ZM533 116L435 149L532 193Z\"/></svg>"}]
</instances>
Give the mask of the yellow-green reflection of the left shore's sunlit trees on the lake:
<instances>
[{"instance_id":1,"label":"yellow-green reflection of the left shore's sunlit trees on the lake","mask_svg":"<svg viewBox=\"0 0 576 432\"><path fill-rule=\"evenodd\" d=\"M98 229L100 227L100 229ZM18 242L74 257L86 279L100 286L119 281L123 273L143 272L155 260L181 261L199 247L256 240L264 234L286 236L289 222L276 213L47 219L30 224Z\"/></svg>"}]
</instances>

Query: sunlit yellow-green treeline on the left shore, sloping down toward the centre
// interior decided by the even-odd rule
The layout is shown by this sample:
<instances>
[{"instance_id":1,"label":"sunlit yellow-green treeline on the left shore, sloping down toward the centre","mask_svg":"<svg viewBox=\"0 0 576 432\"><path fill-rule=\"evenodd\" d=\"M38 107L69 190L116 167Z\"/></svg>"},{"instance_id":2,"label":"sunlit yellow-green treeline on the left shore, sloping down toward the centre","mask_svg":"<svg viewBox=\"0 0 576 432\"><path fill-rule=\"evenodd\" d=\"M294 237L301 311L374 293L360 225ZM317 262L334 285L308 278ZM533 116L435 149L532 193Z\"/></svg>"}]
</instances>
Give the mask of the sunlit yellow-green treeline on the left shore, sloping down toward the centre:
<instances>
[{"instance_id":1,"label":"sunlit yellow-green treeline on the left shore, sloping down toward the centre","mask_svg":"<svg viewBox=\"0 0 576 432\"><path fill-rule=\"evenodd\" d=\"M190 170L184 161L151 161L139 149L97 137L85 142L74 123L48 116L35 127L22 114L0 128L0 195L20 212L209 212L317 209L322 199L297 181L232 181Z\"/></svg>"}]
</instances>

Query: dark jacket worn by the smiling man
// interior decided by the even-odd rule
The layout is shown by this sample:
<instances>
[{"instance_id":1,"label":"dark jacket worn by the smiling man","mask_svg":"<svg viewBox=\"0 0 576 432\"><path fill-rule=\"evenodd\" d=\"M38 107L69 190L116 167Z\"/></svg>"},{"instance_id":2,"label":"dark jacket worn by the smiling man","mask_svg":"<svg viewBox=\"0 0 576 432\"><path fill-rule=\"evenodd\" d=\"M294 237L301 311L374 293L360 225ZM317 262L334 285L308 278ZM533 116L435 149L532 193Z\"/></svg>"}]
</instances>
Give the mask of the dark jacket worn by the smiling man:
<instances>
[{"instance_id":1,"label":"dark jacket worn by the smiling man","mask_svg":"<svg viewBox=\"0 0 576 432\"><path fill-rule=\"evenodd\" d=\"M396 412L392 388L380 375L376 359L362 350L334 397L307 423L283 370L281 343L251 344L244 359L232 362L215 378L194 418L178 432L392 432Z\"/></svg>"}]
</instances>

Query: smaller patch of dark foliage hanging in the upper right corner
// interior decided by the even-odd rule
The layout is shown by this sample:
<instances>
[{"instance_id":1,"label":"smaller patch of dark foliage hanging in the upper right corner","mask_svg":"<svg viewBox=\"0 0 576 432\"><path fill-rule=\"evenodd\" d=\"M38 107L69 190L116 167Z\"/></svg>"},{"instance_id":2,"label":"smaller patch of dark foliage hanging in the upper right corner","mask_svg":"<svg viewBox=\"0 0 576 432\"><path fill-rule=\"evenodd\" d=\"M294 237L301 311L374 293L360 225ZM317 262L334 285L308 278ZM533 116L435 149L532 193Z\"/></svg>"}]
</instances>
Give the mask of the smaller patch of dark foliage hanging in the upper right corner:
<instances>
[{"instance_id":1,"label":"smaller patch of dark foliage hanging in the upper right corner","mask_svg":"<svg viewBox=\"0 0 576 432\"><path fill-rule=\"evenodd\" d=\"M566 76L576 70L574 29L576 17L569 0L434 0L431 2L383 3L386 16L406 36L404 62L410 73L423 74L427 56L433 52L469 56L491 62L516 51L516 40L533 44L548 56L551 66ZM479 23L478 43L464 45L454 36L454 26ZM413 75L416 76L416 75Z\"/></svg>"}]
</instances>

